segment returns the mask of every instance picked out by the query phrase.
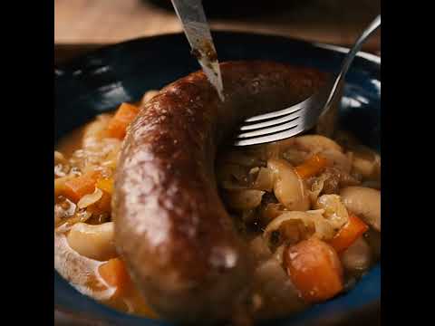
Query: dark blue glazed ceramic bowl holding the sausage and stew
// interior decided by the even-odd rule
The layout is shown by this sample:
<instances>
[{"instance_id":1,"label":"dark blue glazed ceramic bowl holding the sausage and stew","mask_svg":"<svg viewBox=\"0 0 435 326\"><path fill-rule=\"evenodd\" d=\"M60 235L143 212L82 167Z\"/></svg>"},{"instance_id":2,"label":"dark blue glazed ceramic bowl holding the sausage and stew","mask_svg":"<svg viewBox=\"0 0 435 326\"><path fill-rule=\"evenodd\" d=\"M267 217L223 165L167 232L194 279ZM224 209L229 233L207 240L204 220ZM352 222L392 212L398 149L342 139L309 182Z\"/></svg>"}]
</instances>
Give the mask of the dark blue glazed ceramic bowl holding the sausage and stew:
<instances>
[{"instance_id":1,"label":"dark blue glazed ceramic bowl holding the sausage and stew","mask_svg":"<svg viewBox=\"0 0 435 326\"><path fill-rule=\"evenodd\" d=\"M216 32L213 34L219 60L265 59L336 72L345 50L260 34ZM68 62L55 71L55 139L91 120L122 101L138 101L144 91L160 89L189 72L198 62L189 54L183 34L168 34L132 40L103 48ZM362 53L347 75L340 124L362 143L380 150L381 59ZM331 324L353 318L358 312L379 305L381 267L376 265L352 291L314 305L274 325ZM169 325L116 312L75 291L54 273L55 310L104 325Z\"/></svg>"}]
</instances>

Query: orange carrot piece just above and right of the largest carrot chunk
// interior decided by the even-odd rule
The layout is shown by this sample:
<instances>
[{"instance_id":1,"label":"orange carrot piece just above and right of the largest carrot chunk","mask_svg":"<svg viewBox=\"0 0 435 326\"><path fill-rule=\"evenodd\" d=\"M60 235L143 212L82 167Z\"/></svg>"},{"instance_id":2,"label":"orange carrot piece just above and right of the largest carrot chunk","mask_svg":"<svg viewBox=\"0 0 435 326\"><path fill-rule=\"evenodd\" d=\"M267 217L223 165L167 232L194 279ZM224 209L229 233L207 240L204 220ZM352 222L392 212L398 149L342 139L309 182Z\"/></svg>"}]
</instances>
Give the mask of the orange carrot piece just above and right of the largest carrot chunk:
<instances>
[{"instance_id":1,"label":"orange carrot piece just above and right of the largest carrot chunk","mask_svg":"<svg viewBox=\"0 0 435 326\"><path fill-rule=\"evenodd\" d=\"M337 253L342 253L345 249L353 244L362 234L369 229L360 218L349 214L348 222L338 231L338 233L329 241Z\"/></svg>"}]
</instances>

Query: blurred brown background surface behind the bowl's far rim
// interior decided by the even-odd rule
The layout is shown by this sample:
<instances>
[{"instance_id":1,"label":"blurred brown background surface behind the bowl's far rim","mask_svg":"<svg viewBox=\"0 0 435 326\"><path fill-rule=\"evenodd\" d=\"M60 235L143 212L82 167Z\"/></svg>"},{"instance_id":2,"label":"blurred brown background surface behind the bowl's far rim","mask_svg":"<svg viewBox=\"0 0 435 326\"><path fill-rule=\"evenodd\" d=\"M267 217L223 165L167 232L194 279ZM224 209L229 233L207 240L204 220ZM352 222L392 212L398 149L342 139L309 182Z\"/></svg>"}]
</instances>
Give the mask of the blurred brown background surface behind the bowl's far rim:
<instances>
[{"instance_id":1,"label":"blurred brown background surface behind the bowl's far rim","mask_svg":"<svg viewBox=\"0 0 435 326\"><path fill-rule=\"evenodd\" d=\"M279 34L350 46L381 0L203 0L213 29ZM54 56L61 62L108 43L181 32L170 0L54 0ZM363 50L380 54L378 33Z\"/></svg>"}]
</instances>

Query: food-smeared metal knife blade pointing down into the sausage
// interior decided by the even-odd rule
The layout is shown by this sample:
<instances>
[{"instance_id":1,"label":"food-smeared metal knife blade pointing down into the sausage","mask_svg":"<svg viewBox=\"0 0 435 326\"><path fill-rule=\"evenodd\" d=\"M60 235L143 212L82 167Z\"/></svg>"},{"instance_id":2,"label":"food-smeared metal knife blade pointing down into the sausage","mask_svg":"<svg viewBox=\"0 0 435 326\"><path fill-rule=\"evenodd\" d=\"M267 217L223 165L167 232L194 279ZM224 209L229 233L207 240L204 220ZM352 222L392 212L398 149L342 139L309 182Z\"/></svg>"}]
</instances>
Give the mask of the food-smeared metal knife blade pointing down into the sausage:
<instances>
[{"instance_id":1,"label":"food-smeared metal knife blade pointing down into the sausage","mask_svg":"<svg viewBox=\"0 0 435 326\"><path fill-rule=\"evenodd\" d=\"M171 0L176 14L188 38L192 54L197 58L208 81L224 101L224 87L220 73L218 54L211 37L201 0Z\"/></svg>"}]
</instances>

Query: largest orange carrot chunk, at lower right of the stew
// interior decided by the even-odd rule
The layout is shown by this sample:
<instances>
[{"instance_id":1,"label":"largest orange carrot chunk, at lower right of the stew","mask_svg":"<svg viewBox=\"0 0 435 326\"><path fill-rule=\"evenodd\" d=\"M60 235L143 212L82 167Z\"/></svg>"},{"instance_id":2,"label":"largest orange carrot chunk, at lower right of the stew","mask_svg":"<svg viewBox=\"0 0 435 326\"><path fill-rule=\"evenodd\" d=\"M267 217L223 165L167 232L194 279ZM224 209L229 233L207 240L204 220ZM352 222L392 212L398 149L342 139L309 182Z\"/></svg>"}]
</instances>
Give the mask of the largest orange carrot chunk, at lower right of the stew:
<instances>
[{"instance_id":1,"label":"largest orange carrot chunk, at lower right of the stew","mask_svg":"<svg viewBox=\"0 0 435 326\"><path fill-rule=\"evenodd\" d=\"M287 247L284 261L305 302L322 302L343 290L343 267L338 254L315 237Z\"/></svg>"}]
</instances>

